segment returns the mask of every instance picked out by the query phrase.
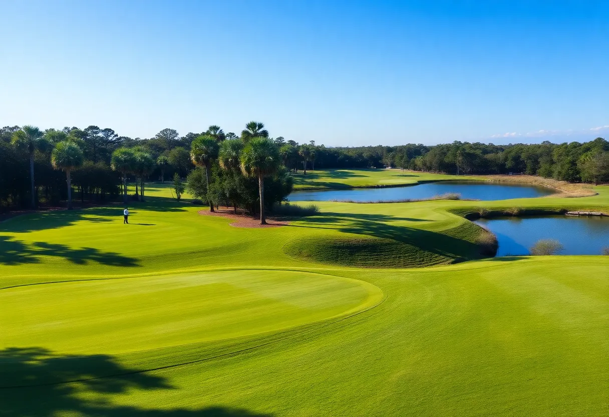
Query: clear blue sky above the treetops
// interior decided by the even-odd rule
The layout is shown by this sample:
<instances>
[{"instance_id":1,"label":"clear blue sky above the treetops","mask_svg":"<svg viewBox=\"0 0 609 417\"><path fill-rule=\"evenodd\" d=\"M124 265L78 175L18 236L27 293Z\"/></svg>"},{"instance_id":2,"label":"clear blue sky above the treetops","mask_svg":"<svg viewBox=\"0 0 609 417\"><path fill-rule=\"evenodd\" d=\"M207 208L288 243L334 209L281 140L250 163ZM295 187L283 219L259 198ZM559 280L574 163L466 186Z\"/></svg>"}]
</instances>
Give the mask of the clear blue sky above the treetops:
<instances>
[{"instance_id":1,"label":"clear blue sky above the treetops","mask_svg":"<svg viewBox=\"0 0 609 417\"><path fill-rule=\"evenodd\" d=\"M0 126L609 137L609 1L3 1L0 16Z\"/></svg>"}]
</instances>

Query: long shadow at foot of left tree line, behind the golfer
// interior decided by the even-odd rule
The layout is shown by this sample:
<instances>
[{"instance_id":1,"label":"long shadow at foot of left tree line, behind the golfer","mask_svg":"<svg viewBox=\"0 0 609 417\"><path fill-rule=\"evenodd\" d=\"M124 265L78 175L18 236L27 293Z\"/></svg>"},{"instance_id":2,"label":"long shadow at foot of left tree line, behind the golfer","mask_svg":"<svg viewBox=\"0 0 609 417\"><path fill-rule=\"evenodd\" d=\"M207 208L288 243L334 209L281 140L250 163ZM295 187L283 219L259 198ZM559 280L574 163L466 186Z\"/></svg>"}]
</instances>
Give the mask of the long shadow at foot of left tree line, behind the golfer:
<instances>
[{"instance_id":1,"label":"long shadow at foot of left tree line, behind the golfer","mask_svg":"<svg viewBox=\"0 0 609 417\"><path fill-rule=\"evenodd\" d=\"M182 204L169 202L132 202L127 204L130 216L137 216L138 210L153 212L186 212ZM49 212L27 213L0 223L0 232L33 232L35 230L57 229L71 226L79 221L90 223L122 223L124 205L93 207L80 210L53 210ZM137 217L136 217L137 218ZM148 224L146 224L148 226ZM152 225L151 225L152 226Z\"/></svg>"}]
</instances>

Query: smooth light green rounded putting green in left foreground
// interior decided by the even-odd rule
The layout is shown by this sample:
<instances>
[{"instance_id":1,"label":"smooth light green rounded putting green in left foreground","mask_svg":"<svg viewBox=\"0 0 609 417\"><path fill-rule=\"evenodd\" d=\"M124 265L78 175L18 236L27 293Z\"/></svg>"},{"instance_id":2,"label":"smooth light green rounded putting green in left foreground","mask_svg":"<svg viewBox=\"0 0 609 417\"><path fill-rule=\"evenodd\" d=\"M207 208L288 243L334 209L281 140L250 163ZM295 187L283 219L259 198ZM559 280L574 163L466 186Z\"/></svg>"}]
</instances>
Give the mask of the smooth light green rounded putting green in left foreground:
<instances>
[{"instance_id":1,"label":"smooth light green rounded putting green in left foreground","mask_svg":"<svg viewBox=\"0 0 609 417\"><path fill-rule=\"evenodd\" d=\"M144 349L286 329L362 310L381 291L295 271L217 271L0 291L0 348L69 354Z\"/></svg>"}]
</instances>

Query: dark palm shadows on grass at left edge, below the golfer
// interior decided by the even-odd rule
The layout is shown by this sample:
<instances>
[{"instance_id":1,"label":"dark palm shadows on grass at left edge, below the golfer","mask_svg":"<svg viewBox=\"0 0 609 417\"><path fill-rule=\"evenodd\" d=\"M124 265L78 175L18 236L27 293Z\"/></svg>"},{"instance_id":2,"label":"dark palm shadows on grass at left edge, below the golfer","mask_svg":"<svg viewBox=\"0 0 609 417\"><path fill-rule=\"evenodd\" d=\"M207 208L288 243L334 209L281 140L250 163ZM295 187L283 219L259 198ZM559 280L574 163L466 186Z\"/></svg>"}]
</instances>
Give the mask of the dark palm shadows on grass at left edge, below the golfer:
<instances>
[{"instance_id":1,"label":"dark palm shadows on grass at left edge, below the golfer","mask_svg":"<svg viewBox=\"0 0 609 417\"><path fill-rule=\"evenodd\" d=\"M27 243L9 236L0 236L0 265L38 263L41 256L65 258L77 265L97 262L109 266L138 266L136 258L116 252L104 252L96 248L77 249L58 243Z\"/></svg>"}]
</instances>

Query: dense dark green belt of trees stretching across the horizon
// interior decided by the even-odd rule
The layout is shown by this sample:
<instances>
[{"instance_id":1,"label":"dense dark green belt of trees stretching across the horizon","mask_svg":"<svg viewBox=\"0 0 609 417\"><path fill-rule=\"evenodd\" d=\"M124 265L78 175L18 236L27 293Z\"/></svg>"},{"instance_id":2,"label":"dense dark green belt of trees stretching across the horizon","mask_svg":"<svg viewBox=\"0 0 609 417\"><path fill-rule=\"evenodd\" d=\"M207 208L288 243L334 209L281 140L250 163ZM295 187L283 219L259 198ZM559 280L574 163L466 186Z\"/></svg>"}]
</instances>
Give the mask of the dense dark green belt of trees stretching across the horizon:
<instances>
[{"instance_id":1,"label":"dense dark green belt of trees stretching across the horizon","mask_svg":"<svg viewBox=\"0 0 609 417\"><path fill-rule=\"evenodd\" d=\"M203 160L193 148L201 137L217 143L217 149L205 149L211 153ZM83 203L116 200L126 192L122 184L127 180L136 181L136 193L124 194L124 198L141 200L146 181L188 177L189 191L203 201L230 202L255 211L261 197L258 180L255 174L245 174L239 159L239 152L255 137L272 143L270 151L276 151L283 165L264 175L267 180L262 198L266 207L289 194L290 171L306 173L315 168L389 166L451 174L533 174L593 184L609 181L609 142L603 138L562 144L455 141L435 146L326 148L315 141L299 144L283 137L270 138L264 125L257 122L248 123L239 135L210 126L204 132L183 136L174 129L163 129L144 139L120 136L113 129L97 126L47 130L5 126L0 129L0 210L57 205L66 201L72 190L73 198ZM233 159L227 160L230 152ZM66 187L66 181L71 187Z\"/></svg>"}]
</instances>

